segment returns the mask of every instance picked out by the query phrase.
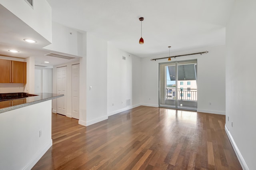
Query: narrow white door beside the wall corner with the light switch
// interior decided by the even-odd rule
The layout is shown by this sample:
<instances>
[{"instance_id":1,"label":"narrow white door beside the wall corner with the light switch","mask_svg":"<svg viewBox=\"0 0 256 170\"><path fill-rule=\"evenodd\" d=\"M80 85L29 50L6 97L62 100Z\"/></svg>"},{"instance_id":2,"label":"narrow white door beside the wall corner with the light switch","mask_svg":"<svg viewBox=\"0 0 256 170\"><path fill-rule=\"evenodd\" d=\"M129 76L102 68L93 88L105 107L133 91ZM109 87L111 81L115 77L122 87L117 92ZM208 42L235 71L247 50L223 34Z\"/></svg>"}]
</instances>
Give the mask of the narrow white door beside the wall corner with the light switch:
<instances>
[{"instance_id":1,"label":"narrow white door beside the wall corner with the light switch","mask_svg":"<svg viewBox=\"0 0 256 170\"><path fill-rule=\"evenodd\" d=\"M79 64L72 65L72 118L79 119Z\"/></svg>"}]
</instances>

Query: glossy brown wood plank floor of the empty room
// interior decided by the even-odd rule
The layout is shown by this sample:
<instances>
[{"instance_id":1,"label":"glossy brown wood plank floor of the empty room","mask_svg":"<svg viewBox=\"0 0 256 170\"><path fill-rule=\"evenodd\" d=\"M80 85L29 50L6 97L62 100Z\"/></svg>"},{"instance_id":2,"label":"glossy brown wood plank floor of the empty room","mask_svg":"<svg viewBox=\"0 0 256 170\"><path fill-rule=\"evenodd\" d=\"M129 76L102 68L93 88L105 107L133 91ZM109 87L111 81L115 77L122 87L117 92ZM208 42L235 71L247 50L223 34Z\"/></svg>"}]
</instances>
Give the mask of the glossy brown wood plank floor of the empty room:
<instances>
[{"instance_id":1,"label":"glossy brown wood plank floor of the empty room","mask_svg":"<svg viewBox=\"0 0 256 170\"><path fill-rule=\"evenodd\" d=\"M52 147L34 170L242 170L225 116L140 106L84 127L52 114Z\"/></svg>"}]
</instances>

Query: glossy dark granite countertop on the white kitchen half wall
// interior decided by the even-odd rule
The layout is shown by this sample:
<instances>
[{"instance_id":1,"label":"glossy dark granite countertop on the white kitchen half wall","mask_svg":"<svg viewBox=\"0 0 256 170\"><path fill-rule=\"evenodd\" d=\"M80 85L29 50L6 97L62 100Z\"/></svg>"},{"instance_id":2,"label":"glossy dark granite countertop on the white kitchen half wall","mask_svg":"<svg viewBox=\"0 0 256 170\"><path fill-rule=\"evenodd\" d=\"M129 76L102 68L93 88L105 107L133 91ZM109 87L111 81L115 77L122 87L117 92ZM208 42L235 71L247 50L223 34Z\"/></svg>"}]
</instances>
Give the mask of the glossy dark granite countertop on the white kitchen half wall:
<instances>
[{"instance_id":1,"label":"glossy dark granite countertop on the white kitchen half wall","mask_svg":"<svg viewBox=\"0 0 256 170\"><path fill-rule=\"evenodd\" d=\"M0 113L11 111L14 109L19 109L29 105L34 105L36 103L41 103L44 101L56 99L64 95L54 94L54 93L34 93L36 96L29 96L19 99L9 99L5 101L0 101Z\"/></svg>"}]
</instances>

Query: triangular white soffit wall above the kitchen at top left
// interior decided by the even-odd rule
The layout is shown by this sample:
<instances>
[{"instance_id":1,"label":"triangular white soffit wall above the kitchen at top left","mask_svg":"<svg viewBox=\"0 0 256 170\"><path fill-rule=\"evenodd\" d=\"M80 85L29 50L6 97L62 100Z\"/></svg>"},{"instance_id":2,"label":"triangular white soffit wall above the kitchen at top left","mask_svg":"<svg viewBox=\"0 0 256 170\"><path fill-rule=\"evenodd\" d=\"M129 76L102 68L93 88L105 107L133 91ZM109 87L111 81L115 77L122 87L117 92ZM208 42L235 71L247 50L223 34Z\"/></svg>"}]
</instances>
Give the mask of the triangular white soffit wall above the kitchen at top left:
<instances>
[{"instance_id":1,"label":"triangular white soffit wall above the kitchen at top left","mask_svg":"<svg viewBox=\"0 0 256 170\"><path fill-rule=\"evenodd\" d=\"M25 0L0 0L0 4L52 42L52 8L47 0L34 0L33 9Z\"/></svg>"}]
</instances>

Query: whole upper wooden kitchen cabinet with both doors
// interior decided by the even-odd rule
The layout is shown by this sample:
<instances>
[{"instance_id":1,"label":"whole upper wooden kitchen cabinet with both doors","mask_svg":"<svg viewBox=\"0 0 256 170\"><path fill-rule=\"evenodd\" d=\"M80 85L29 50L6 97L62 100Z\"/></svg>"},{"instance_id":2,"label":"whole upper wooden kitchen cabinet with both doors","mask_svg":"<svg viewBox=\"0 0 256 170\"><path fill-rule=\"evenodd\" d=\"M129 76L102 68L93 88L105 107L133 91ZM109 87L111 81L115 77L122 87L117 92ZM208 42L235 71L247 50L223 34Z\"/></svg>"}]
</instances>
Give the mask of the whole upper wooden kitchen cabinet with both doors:
<instances>
[{"instance_id":1,"label":"whole upper wooden kitchen cabinet with both doors","mask_svg":"<svg viewBox=\"0 0 256 170\"><path fill-rule=\"evenodd\" d=\"M0 83L26 83L27 63L0 59Z\"/></svg>"}]
</instances>

